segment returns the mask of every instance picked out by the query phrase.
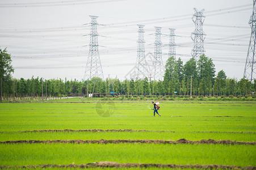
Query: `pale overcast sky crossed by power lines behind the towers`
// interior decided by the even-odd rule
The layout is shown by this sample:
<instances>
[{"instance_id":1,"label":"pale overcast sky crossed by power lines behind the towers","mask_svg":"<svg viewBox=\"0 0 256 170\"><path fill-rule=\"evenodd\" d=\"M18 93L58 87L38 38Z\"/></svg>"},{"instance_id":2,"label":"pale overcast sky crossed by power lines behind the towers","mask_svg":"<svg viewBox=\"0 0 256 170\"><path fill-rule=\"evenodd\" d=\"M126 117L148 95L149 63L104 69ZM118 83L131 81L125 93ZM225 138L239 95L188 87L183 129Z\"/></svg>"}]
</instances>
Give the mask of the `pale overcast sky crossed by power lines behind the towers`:
<instances>
[{"instance_id":1,"label":"pale overcast sky crossed by power lines behind the towers","mask_svg":"<svg viewBox=\"0 0 256 170\"><path fill-rule=\"evenodd\" d=\"M0 47L12 56L14 78L77 79L89 53L89 15L99 16L99 55L104 78L129 78L137 58L137 24L144 24L146 59L154 53L154 27L162 27L163 64L169 28L175 28L177 58L191 58L193 8L205 9L205 55L216 74L244 74L250 41L252 0L1 0ZM86 25L84 25L86 24Z\"/></svg>"}]
</instances>

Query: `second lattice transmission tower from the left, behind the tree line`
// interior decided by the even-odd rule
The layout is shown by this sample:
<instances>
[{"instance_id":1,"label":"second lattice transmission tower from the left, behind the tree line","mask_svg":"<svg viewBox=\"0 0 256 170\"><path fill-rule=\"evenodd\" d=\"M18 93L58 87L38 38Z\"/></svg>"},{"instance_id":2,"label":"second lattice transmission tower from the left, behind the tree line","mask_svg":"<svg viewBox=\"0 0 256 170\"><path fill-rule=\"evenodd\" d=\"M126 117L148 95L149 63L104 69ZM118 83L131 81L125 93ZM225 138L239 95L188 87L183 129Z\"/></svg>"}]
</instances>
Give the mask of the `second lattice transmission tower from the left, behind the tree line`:
<instances>
[{"instance_id":1,"label":"second lattice transmission tower from the left, behind the tree line","mask_svg":"<svg viewBox=\"0 0 256 170\"><path fill-rule=\"evenodd\" d=\"M148 76L148 64L146 63L145 57L145 40L144 40L144 25L138 25L139 37L138 37L138 48L137 48L137 61L136 61L136 78L144 79Z\"/></svg>"}]
</instances>

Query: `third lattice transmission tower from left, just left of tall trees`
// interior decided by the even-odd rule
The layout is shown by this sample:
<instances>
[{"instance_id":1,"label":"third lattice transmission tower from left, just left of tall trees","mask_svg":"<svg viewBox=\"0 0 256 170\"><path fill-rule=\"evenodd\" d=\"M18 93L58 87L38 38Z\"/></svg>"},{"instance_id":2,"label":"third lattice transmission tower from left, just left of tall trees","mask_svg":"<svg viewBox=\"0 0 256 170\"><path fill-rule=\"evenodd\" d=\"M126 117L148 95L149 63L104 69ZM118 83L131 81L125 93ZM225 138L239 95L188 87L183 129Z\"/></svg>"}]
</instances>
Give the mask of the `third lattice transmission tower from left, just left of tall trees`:
<instances>
[{"instance_id":1,"label":"third lattice transmission tower from left, just left of tall trees","mask_svg":"<svg viewBox=\"0 0 256 170\"><path fill-rule=\"evenodd\" d=\"M162 60L162 41L161 41L161 27L154 27L156 29L156 39L154 41L154 60L153 60L153 79L163 80L163 74L165 70L163 69Z\"/></svg>"}]
</instances>

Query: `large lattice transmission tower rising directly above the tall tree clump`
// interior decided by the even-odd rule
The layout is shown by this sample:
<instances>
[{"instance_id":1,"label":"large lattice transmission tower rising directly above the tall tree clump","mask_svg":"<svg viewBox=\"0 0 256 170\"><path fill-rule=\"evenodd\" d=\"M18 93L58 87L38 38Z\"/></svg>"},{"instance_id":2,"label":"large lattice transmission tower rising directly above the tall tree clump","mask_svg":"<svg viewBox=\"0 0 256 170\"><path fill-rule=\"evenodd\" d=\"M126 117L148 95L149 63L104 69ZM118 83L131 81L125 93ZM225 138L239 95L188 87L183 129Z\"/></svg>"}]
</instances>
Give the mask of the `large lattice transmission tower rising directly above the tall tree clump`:
<instances>
[{"instance_id":1,"label":"large lattice transmission tower rising directly above the tall tree clump","mask_svg":"<svg viewBox=\"0 0 256 170\"><path fill-rule=\"evenodd\" d=\"M194 8L195 14L192 16L192 21L195 23L195 31L191 34L191 39L194 41L194 48L191 51L192 57L195 61L204 54L204 39L205 33L203 31L203 23L205 16L203 15L203 10L198 11Z\"/></svg>"}]
</instances>

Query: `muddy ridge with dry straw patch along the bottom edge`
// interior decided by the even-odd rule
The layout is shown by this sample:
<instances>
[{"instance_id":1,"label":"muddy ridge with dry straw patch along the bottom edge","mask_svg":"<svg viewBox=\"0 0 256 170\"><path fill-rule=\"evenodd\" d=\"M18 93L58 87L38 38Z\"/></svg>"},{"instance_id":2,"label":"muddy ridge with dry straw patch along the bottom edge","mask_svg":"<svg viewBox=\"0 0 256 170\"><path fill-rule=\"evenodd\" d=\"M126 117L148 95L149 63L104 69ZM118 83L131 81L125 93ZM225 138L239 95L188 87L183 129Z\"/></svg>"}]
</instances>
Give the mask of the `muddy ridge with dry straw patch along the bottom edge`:
<instances>
[{"instance_id":1,"label":"muddy ridge with dry straw patch along the bottom edge","mask_svg":"<svg viewBox=\"0 0 256 170\"><path fill-rule=\"evenodd\" d=\"M56 165L56 164L43 164L43 165L26 165L26 166L0 166L1 169L14 169L14 168L196 168L196 169L256 169L256 167L238 167L234 165L177 165L177 164L137 164L137 163L123 163L116 162L98 162L88 164L69 164L69 165Z\"/></svg>"}]
</instances>

